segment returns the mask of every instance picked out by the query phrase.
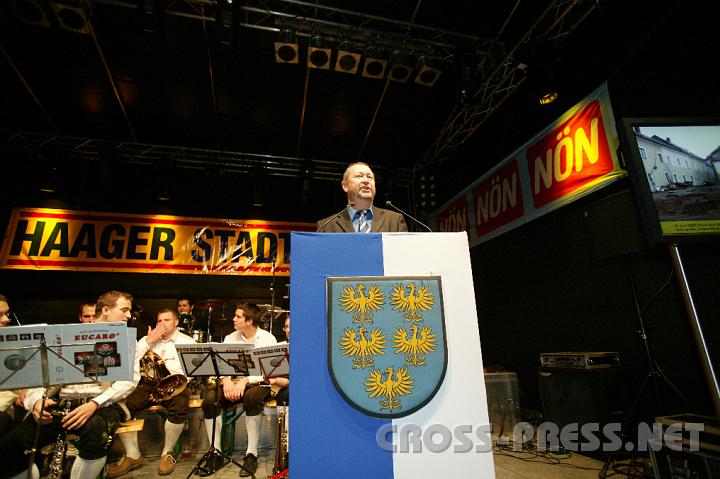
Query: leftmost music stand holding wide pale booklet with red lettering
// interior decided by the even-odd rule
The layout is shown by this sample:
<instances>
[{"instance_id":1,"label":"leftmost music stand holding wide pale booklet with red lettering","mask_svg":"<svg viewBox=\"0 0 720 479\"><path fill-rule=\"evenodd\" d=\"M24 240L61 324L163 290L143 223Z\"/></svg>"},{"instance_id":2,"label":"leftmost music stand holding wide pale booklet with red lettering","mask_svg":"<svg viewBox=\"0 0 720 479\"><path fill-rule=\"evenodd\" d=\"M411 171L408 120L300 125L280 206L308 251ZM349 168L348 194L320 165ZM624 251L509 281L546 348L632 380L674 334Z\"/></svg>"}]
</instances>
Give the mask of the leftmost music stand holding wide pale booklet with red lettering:
<instances>
[{"instance_id":1,"label":"leftmost music stand holding wide pale booklet with red lettering","mask_svg":"<svg viewBox=\"0 0 720 479\"><path fill-rule=\"evenodd\" d=\"M106 328L107 324L102 326L102 329L105 330ZM91 327L91 329L101 328ZM96 345L98 344L97 342L92 341L67 343L64 341L59 341L59 344L57 345L48 346L46 342L46 337L62 338L62 326L19 326L3 328L2 332L2 340L4 344L3 347L0 347L0 356L3 356L2 363L5 368L12 372L2 378L2 380L0 381L0 389L24 389L32 387L43 387L44 391L41 399L42 402L40 403L41 417L43 415L43 412L45 411L48 391L50 390L51 386L64 386L67 384L84 383L84 381L78 381L77 373L79 373L83 378L90 379L90 382L100 382L97 379L97 376L102 368L97 367L97 365L101 363L101 361L98 360L101 355L96 348ZM8 347L8 344L14 341L17 341L18 345L13 344ZM78 365L84 367L86 364L73 364L65 357L67 353L61 351L62 348L72 349L82 346L93 346L92 351L83 352L82 354L88 360L92 358L91 363L92 365L94 365L94 368L81 369L80 367L78 367ZM61 352L58 352L56 350ZM26 357L25 354L23 354L23 351L31 351L31 353L29 356ZM48 354L48 351L52 353L52 356ZM8 352L10 354L4 354ZM116 353L115 355L117 356L118 360L121 362L122 357L117 354L118 349L115 349L114 352ZM39 357L37 357L38 354ZM50 358L52 358L52 361ZM70 366L70 372L67 373L67 376L65 376L64 374L58 375L59 371L64 371L64 368L67 367L66 364ZM18 372L22 370L24 371L21 374L18 374ZM73 373L73 370L75 370L76 372ZM104 371L107 372L107 369L104 369ZM38 372L40 374L37 374ZM42 424L37 425L35 429L33 445L29 451L30 457L28 460L28 478L32 477L32 465L35 462L35 457L37 454L37 446L40 440L41 427Z\"/></svg>"}]
</instances>

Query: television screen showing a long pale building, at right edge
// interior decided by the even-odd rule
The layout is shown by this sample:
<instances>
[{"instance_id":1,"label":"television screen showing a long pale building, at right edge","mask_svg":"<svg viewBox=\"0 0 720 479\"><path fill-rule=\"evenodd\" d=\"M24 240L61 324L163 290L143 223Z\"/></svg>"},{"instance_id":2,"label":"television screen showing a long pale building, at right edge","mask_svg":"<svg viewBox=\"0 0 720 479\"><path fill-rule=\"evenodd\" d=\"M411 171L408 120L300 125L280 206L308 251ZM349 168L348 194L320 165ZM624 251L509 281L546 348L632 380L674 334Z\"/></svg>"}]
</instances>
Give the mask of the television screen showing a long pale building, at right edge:
<instances>
[{"instance_id":1,"label":"television screen showing a long pale building, at right edge","mask_svg":"<svg viewBox=\"0 0 720 479\"><path fill-rule=\"evenodd\" d=\"M720 118L623 118L650 243L720 238Z\"/></svg>"}]
</instances>

